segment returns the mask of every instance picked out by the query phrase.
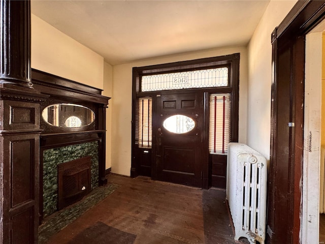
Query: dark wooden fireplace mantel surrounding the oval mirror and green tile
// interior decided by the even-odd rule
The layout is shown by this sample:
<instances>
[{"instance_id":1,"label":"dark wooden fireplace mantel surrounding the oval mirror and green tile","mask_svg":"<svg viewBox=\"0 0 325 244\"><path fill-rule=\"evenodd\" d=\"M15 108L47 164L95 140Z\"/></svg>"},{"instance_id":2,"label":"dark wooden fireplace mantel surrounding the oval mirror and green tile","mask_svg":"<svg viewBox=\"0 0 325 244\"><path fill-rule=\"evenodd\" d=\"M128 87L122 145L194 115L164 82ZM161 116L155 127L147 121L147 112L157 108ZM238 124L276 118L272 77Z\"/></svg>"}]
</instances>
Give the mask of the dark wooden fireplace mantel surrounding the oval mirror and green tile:
<instances>
[{"instance_id":1,"label":"dark wooden fireplace mantel surrounding the oval mirror and green tile","mask_svg":"<svg viewBox=\"0 0 325 244\"><path fill-rule=\"evenodd\" d=\"M49 96L40 107L40 221L43 218L43 151L49 148L98 141L99 185L105 185L106 158L106 108L109 97L102 96L102 89L65 79L39 70L31 70L34 88ZM42 111L53 104L76 104L91 109L93 123L79 128L55 127L42 118Z\"/></svg>"}]
</instances>

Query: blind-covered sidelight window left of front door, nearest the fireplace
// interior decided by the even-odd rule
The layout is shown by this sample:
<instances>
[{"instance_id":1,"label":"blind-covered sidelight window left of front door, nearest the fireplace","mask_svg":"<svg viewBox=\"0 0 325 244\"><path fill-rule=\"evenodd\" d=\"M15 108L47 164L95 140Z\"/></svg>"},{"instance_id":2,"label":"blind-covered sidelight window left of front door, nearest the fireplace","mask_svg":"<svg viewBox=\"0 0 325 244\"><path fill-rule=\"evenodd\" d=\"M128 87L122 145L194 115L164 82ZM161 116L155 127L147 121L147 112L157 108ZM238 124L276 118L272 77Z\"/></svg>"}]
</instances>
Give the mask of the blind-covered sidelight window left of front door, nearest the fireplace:
<instances>
[{"instance_id":1,"label":"blind-covered sidelight window left of front door, nearest the fireplace","mask_svg":"<svg viewBox=\"0 0 325 244\"><path fill-rule=\"evenodd\" d=\"M151 148L152 98L139 98L136 121L136 144L138 144L140 148Z\"/></svg>"}]
</instances>

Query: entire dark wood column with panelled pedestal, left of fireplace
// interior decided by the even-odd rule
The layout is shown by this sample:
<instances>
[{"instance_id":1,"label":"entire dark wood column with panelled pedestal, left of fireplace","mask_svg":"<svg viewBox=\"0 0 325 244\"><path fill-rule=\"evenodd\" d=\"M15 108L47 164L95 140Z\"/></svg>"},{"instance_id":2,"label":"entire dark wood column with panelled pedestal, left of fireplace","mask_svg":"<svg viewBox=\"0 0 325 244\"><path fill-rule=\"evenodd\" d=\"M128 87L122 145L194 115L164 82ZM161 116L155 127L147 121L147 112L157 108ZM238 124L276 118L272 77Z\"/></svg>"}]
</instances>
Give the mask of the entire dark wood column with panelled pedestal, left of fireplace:
<instances>
[{"instance_id":1,"label":"entire dark wood column with panelled pedestal, left of fireplace","mask_svg":"<svg viewBox=\"0 0 325 244\"><path fill-rule=\"evenodd\" d=\"M40 103L30 82L30 2L0 1L0 243L38 243Z\"/></svg>"}]
</instances>

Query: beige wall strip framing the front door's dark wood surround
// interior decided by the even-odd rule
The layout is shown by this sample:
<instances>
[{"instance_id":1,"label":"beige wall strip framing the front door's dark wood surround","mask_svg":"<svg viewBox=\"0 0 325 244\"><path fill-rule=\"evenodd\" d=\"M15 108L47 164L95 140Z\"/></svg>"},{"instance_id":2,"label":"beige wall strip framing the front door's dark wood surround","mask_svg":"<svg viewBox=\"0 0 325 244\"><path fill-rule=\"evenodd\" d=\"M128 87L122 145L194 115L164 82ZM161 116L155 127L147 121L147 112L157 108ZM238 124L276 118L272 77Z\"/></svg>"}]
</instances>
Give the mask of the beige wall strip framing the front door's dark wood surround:
<instances>
[{"instance_id":1,"label":"beige wall strip framing the front door's dark wood surround","mask_svg":"<svg viewBox=\"0 0 325 244\"><path fill-rule=\"evenodd\" d=\"M247 49L233 47L179 54L168 57L144 60L113 67L113 103L112 103L112 172L130 175L131 170L131 118L132 118L132 68L155 64L165 64L204 57L221 56L239 52L239 141L246 143L246 107L247 107Z\"/></svg>"}]
</instances>

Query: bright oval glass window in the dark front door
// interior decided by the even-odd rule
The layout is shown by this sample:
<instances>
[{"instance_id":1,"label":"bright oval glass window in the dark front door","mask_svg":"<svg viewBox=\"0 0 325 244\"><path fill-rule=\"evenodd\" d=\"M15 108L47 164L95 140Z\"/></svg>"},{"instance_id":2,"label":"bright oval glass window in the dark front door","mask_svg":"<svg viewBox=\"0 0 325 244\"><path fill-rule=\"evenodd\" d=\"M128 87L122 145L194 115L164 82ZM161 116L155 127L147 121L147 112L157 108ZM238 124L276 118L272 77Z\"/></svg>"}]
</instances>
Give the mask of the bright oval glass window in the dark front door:
<instances>
[{"instance_id":1,"label":"bright oval glass window in the dark front door","mask_svg":"<svg viewBox=\"0 0 325 244\"><path fill-rule=\"evenodd\" d=\"M170 132L184 134L194 129L195 122L190 117L182 114L176 114L166 118L163 126Z\"/></svg>"}]
</instances>

